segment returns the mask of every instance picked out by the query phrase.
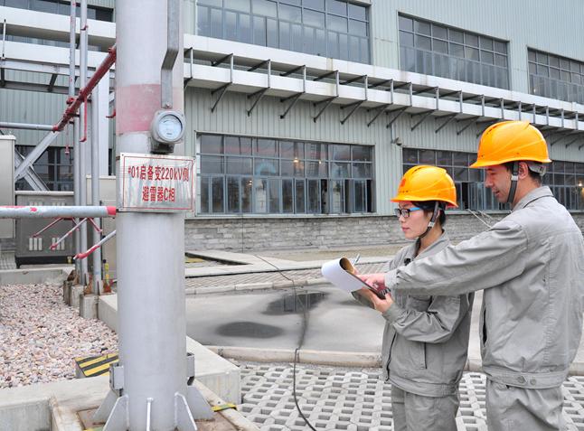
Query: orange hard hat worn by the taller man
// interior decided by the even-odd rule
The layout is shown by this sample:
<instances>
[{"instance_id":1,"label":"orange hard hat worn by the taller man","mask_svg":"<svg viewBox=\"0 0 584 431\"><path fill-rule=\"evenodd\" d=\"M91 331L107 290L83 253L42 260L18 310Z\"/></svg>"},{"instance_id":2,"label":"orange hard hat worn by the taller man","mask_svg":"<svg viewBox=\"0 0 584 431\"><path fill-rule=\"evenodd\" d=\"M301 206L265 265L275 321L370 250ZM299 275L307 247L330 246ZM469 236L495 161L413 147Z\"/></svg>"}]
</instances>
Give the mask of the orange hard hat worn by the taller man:
<instances>
[{"instance_id":1,"label":"orange hard hat worn by the taller man","mask_svg":"<svg viewBox=\"0 0 584 431\"><path fill-rule=\"evenodd\" d=\"M527 121L502 121L485 130L478 143L476 162L482 168L518 160L551 163L548 145L536 127Z\"/></svg>"}]
</instances>

